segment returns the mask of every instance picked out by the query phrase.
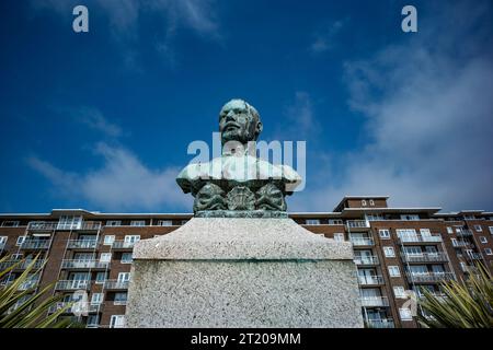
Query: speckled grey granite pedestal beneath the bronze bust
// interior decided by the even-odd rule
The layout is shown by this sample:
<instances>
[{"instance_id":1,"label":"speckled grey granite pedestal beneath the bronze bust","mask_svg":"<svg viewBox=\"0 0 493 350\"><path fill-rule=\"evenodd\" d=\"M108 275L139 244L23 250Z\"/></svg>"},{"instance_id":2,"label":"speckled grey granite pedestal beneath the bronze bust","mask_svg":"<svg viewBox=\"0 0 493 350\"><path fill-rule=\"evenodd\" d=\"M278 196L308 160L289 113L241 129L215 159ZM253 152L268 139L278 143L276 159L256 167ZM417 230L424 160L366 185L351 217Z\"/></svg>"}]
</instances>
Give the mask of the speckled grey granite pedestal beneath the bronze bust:
<instances>
[{"instance_id":1,"label":"speckled grey granite pedestal beneath the bronze bust","mask_svg":"<svg viewBox=\"0 0 493 350\"><path fill-rule=\"evenodd\" d=\"M134 248L127 327L363 327L348 242L291 219L194 218Z\"/></svg>"}]
</instances>

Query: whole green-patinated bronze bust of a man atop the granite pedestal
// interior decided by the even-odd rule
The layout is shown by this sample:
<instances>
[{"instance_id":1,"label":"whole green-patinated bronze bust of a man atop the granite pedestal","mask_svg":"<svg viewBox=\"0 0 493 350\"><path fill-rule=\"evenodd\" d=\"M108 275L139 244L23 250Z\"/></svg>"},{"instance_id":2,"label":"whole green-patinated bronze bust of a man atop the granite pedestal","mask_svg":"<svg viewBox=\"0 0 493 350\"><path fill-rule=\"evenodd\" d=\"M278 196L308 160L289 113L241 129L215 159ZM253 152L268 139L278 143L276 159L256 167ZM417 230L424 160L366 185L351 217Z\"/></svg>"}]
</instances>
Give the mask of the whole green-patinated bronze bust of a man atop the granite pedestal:
<instances>
[{"instance_id":1,"label":"whole green-patinated bronze bust of a man atop the granite pedestal","mask_svg":"<svg viewBox=\"0 0 493 350\"><path fill-rule=\"evenodd\" d=\"M231 100L219 113L222 152L208 163L187 165L176 177L182 190L195 197L200 217L237 217L285 212L285 196L301 177L288 165L274 165L256 156L262 122L243 100ZM245 214L246 212L246 214Z\"/></svg>"}]
</instances>

